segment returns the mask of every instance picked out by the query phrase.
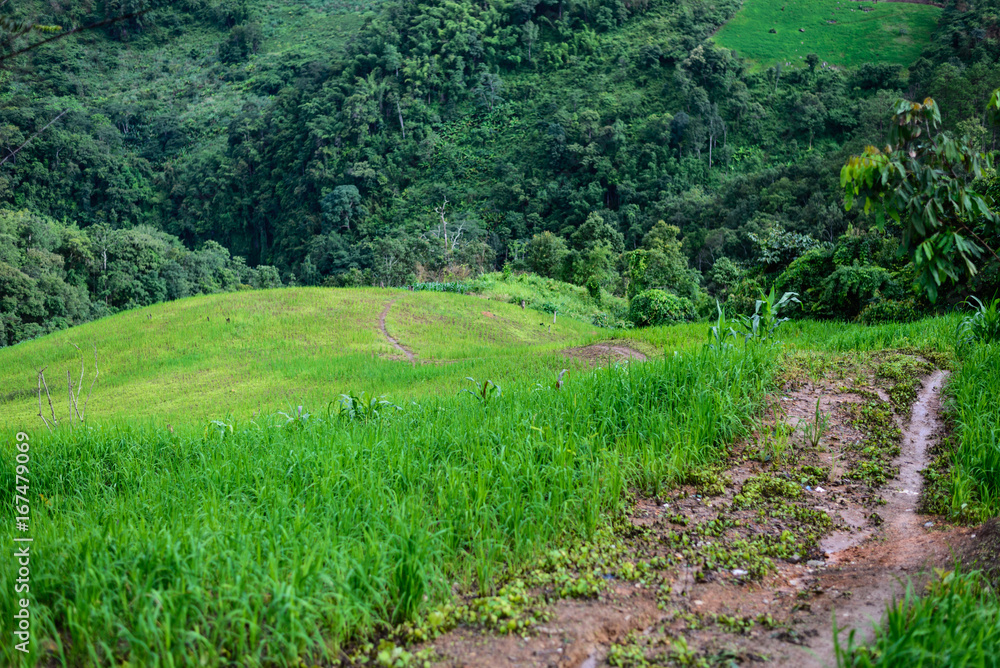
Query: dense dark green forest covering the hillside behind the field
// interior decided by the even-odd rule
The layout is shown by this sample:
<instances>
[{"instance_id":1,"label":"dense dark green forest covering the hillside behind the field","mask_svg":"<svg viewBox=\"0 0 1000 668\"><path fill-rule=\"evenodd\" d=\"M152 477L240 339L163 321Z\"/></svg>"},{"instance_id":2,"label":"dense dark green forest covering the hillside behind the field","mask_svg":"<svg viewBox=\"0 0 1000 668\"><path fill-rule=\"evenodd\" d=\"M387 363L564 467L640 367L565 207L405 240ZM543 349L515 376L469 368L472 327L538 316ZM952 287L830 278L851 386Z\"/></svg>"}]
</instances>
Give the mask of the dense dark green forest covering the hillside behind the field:
<instances>
[{"instance_id":1,"label":"dense dark green forest covering the hillside behind the field","mask_svg":"<svg viewBox=\"0 0 1000 668\"><path fill-rule=\"evenodd\" d=\"M996 148L998 5L950 2L909 68L847 69L720 48L735 0L161 3L0 70L0 344L279 277L505 266L692 312L776 284L814 316L914 317L900 229L845 210L840 167L899 98ZM974 187L992 201L993 172ZM987 261L954 295L998 285Z\"/></svg>"}]
</instances>

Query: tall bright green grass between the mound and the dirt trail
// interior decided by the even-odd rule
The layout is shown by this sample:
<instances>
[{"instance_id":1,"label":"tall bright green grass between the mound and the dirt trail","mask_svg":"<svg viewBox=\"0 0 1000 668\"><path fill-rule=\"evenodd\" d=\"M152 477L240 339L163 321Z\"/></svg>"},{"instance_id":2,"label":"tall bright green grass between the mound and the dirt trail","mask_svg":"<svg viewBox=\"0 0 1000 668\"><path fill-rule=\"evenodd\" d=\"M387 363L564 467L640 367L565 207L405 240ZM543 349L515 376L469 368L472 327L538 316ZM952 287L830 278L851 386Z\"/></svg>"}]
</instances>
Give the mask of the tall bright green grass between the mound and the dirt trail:
<instances>
[{"instance_id":1,"label":"tall bright green grass between the mound and the dirt trail","mask_svg":"<svg viewBox=\"0 0 1000 668\"><path fill-rule=\"evenodd\" d=\"M31 661L46 645L70 664L330 659L455 582L489 589L551 541L592 534L625 488L655 493L718 459L774 366L773 350L705 350L367 423L320 409L36 432ZM14 661L9 643L0 656Z\"/></svg>"}]
</instances>

